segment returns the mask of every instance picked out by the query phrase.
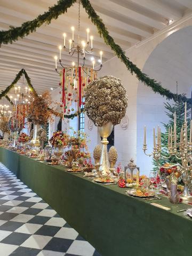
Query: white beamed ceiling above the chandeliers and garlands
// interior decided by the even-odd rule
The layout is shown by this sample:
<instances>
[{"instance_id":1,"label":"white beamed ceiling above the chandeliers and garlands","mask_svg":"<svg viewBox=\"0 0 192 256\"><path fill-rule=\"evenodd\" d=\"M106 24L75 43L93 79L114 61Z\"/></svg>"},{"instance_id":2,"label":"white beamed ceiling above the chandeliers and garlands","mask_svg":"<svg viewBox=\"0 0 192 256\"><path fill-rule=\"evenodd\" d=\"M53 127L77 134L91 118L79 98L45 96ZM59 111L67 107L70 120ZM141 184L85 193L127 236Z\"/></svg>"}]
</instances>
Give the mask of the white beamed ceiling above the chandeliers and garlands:
<instances>
[{"instance_id":1,"label":"white beamed ceiling above the chandeliers and garlands","mask_svg":"<svg viewBox=\"0 0 192 256\"><path fill-rule=\"evenodd\" d=\"M169 25L169 20L177 21L192 10L191 0L91 0L115 42L126 50L135 43L148 38L156 31ZM33 20L38 14L48 10L57 0L0 0L0 29L20 26ZM13 44L0 48L0 90L11 84L21 68L25 68L35 89L41 93L45 89L58 87L59 77L54 71L54 55L62 44L62 34L71 36L70 27L77 29L78 5L74 4L67 13L60 15L50 25L43 25L33 34L19 39ZM81 6L81 37L86 39L86 28L94 36L93 56L99 58L103 51L103 61L114 57L97 29L91 23ZM67 40L68 41L68 40ZM91 56L90 56L91 57ZM89 57L89 58L90 58ZM63 63L76 62L76 57L62 54ZM87 65L90 61L87 60Z\"/></svg>"}]
</instances>

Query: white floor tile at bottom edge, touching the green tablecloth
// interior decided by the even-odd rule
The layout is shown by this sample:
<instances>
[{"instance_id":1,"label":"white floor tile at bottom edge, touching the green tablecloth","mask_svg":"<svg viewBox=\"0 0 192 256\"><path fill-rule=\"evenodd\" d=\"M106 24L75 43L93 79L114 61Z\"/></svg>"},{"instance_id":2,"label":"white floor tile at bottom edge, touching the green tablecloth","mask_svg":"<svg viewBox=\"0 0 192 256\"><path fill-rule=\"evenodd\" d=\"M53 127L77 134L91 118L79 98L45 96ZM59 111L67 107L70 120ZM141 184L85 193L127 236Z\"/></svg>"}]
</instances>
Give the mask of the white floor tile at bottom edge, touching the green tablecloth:
<instances>
[{"instance_id":1,"label":"white floor tile at bottom edge, touching the green tablecloth","mask_svg":"<svg viewBox=\"0 0 192 256\"><path fill-rule=\"evenodd\" d=\"M93 256L94 248L88 242L75 240L69 247L67 253L81 256Z\"/></svg>"}]
</instances>

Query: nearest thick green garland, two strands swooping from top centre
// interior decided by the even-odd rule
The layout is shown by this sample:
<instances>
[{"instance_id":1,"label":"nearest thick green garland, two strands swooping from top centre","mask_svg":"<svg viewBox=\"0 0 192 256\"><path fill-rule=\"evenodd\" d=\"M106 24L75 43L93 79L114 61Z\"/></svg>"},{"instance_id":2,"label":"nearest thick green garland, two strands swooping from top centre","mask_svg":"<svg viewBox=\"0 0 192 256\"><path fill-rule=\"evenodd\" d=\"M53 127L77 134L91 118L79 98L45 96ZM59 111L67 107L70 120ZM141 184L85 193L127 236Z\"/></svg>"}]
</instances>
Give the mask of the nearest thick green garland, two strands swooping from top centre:
<instances>
[{"instance_id":1,"label":"nearest thick green garland, two strands swooping from top centre","mask_svg":"<svg viewBox=\"0 0 192 256\"><path fill-rule=\"evenodd\" d=\"M20 27L11 27L7 31L0 31L0 46L1 44L17 41L19 37L22 38L26 35L29 35L29 33L34 32L36 28L42 26L44 23L49 24L52 19L57 19L60 14L67 12L67 9L75 2L76 0L59 0L57 4L49 7L49 11L38 15L36 19L24 22ZM121 46L116 44L113 37L109 35L105 24L102 22L102 19L99 17L99 15L94 11L89 0L81 0L81 2L87 14L89 15L89 18L93 24L97 26L99 35L102 35L105 43L109 45L111 50L116 53L117 57L124 62L126 68L131 72L131 74L134 73L139 81L149 86L155 93L159 93L163 97L165 96L167 99L173 99L175 101L182 100L187 101L190 104L192 103L191 99L188 99L181 94L178 95L176 93L172 93L170 90L165 89L161 83L157 82L155 79L151 79L145 73L142 73L142 71L132 61L130 61L129 58L126 57L125 52L122 50Z\"/></svg>"}]
</instances>

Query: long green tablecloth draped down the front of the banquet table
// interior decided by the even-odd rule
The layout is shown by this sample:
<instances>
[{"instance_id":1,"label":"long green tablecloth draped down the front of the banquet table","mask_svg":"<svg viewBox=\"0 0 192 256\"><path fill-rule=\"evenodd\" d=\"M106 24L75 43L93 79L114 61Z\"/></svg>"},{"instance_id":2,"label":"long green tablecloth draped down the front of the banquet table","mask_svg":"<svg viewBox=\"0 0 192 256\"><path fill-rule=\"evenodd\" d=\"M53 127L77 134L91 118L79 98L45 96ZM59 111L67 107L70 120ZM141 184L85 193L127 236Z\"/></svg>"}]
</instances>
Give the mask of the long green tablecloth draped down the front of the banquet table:
<instances>
[{"instance_id":1,"label":"long green tablecloth draped down the front of the banquet table","mask_svg":"<svg viewBox=\"0 0 192 256\"><path fill-rule=\"evenodd\" d=\"M63 166L51 166L0 147L0 162L35 191L89 241L102 256L189 256L192 221L177 213L185 204L166 198L152 201L125 195L116 185L103 186Z\"/></svg>"}]
</instances>

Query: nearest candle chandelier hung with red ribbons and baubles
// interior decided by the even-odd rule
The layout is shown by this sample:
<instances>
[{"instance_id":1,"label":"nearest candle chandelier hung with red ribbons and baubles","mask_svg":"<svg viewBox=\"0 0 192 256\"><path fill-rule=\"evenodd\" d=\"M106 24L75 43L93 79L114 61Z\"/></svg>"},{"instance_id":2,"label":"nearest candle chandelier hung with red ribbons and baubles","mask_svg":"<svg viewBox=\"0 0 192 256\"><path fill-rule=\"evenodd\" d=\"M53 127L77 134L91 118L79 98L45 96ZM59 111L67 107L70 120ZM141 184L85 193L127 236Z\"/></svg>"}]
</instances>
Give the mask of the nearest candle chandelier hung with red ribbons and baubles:
<instances>
[{"instance_id":1,"label":"nearest candle chandelier hung with red ribbons and baubles","mask_svg":"<svg viewBox=\"0 0 192 256\"><path fill-rule=\"evenodd\" d=\"M66 114L78 115L78 112L84 105L84 89L88 83L97 78L97 72L102 68L102 51L100 51L100 67L95 69L95 60L92 57L92 65L86 66L86 56L93 53L93 36L90 36L90 29L86 29L86 42L80 38L80 1L78 2L78 35L77 42L74 37L75 28L71 27L71 38L69 39L68 46L67 35L63 34L63 47L59 46L59 64L61 70L58 71L58 57L55 56L55 71L60 75L60 93L63 117ZM77 55L77 61L72 62L71 66L63 66L61 54L62 50L68 52L72 57ZM82 63L82 65L80 64Z\"/></svg>"}]
</instances>

